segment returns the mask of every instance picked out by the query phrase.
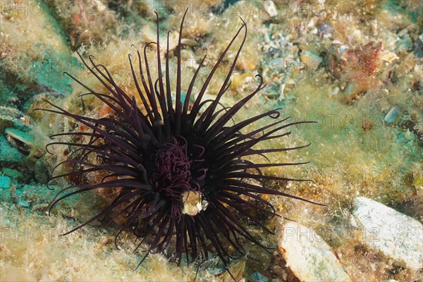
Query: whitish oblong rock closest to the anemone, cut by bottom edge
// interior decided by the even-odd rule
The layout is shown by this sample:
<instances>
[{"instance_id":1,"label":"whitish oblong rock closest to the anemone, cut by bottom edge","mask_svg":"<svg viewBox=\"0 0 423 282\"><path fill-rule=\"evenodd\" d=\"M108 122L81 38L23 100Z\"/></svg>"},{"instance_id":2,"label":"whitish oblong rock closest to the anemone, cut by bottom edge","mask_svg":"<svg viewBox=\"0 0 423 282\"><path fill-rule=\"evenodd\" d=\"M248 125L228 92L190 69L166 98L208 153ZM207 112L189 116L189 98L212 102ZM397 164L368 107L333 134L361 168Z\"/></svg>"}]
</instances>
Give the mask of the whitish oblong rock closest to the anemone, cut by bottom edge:
<instances>
[{"instance_id":1,"label":"whitish oblong rock closest to the anemone, cut by bottom edge","mask_svg":"<svg viewBox=\"0 0 423 282\"><path fill-rule=\"evenodd\" d=\"M279 250L300 281L351 281L331 247L312 229L292 221L283 224Z\"/></svg>"}]
</instances>

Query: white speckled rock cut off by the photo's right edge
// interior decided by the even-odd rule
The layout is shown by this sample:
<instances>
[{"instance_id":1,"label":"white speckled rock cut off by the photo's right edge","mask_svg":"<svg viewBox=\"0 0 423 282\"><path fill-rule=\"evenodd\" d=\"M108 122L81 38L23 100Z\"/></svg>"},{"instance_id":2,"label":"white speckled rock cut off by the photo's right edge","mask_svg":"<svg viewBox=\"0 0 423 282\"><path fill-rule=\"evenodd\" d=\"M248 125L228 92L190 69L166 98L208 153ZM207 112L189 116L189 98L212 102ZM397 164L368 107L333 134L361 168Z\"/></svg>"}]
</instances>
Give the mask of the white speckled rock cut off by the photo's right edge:
<instances>
[{"instance_id":1,"label":"white speckled rock cut off by the photo's right edge","mask_svg":"<svg viewBox=\"0 0 423 282\"><path fill-rule=\"evenodd\" d=\"M363 243L403 266L417 271L423 265L423 225L410 216L366 197L354 201Z\"/></svg>"}]
</instances>

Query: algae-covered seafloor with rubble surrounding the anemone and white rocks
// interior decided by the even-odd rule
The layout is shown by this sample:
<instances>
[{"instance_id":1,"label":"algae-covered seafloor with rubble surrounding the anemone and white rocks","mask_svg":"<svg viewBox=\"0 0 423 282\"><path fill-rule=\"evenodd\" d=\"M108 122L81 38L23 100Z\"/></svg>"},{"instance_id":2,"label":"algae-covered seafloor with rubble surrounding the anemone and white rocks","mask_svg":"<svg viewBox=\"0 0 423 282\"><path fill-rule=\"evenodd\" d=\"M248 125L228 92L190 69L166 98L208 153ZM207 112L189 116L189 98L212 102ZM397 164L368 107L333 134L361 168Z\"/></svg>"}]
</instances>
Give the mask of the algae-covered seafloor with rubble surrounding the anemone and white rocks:
<instances>
[{"instance_id":1,"label":"algae-covered seafloor with rubble surrounding the anemone and white rocks","mask_svg":"<svg viewBox=\"0 0 423 282\"><path fill-rule=\"evenodd\" d=\"M155 41L154 11L159 14L161 37L173 30L174 49L185 8L185 89L204 54L209 69L219 58L242 18L247 40L222 104L231 106L251 93L260 73L266 89L235 119L281 108L280 118L317 122L292 128L290 137L278 144L263 145L295 147L310 142L305 149L268 156L274 162L309 164L264 172L310 179L269 185L326 206L269 197L278 214L323 238L350 281L423 281L422 268L363 242L366 229L353 216L355 199L367 197L409 216L404 220L423 221L421 0L1 0L0 281L192 281L196 271L197 281L232 281L213 258L197 268L151 255L135 269L142 252L133 253L137 242L130 233L123 234L117 250L116 226L94 223L59 236L98 212L104 204L101 195L71 197L46 214L50 200L66 185L51 183L54 190L49 190L46 183L67 151L55 146L48 154L45 145L49 135L75 127L35 109L47 107L47 99L76 114L107 115L110 109L92 97L78 97L80 85L63 75L66 71L104 91L76 51L86 58L94 55L125 92L134 93L128 54L135 57L137 49ZM147 51L152 56L154 52ZM235 54L236 48L228 52L207 98L218 92ZM171 75L174 80L175 73ZM287 263L278 243L281 219L263 222L277 234L245 225L275 247L274 252L246 243L248 255L230 266L238 281L324 281L298 274L295 264L302 262ZM392 224L394 228L405 223ZM417 251L423 252L418 244ZM394 242L392 248L398 246ZM322 273L333 268L329 262L319 267Z\"/></svg>"}]
</instances>

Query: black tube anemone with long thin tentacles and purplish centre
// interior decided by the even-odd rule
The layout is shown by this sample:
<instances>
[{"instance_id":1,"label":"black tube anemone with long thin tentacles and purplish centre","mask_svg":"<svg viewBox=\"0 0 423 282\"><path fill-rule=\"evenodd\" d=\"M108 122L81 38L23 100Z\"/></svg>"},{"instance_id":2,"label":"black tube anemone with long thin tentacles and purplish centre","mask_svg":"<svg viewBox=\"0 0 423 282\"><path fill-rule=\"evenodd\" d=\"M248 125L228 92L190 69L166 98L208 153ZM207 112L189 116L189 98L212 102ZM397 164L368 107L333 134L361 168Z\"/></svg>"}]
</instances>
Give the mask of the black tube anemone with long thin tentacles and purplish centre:
<instances>
[{"instance_id":1,"label":"black tube anemone with long thin tentacles and purplish centre","mask_svg":"<svg viewBox=\"0 0 423 282\"><path fill-rule=\"evenodd\" d=\"M295 179L266 176L261 169L305 163L255 164L245 157L307 147L308 145L253 149L259 142L290 134L289 132L281 134L280 130L306 122L287 123L286 119L276 120L279 116L279 111L276 109L228 125L233 115L264 88L260 75L257 75L259 85L254 92L231 108L218 109L221 97L231 84L230 78L247 36L247 25L244 22L207 76L193 104L190 105L193 85L202 67L204 56L182 102L180 35L185 15L186 11L180 24L176 49L178 61L175 102L172 102L171 97L168 40L164 77L162 75L158 17L157 42L149 42L144 48L145 69L142 68L140 51L137 51L139 65L137 71L133 59L128 56L137 95L142 102L142 110L137 105L135 97L125 93L116 84L106 67L94 63L92 56L89 56L88 62L78 54L85 67L102 82L109 93L96 92L72 75L68 75L85 87L87 93L83 95L94 95L107 104L114 114L113 118L89 118L72 114L49 103L53 108L45 111L73 118L80 125L89 128L89 132L68 132L52 136L54 138L67 135L75 140L80 137L88 140L49 144L67 145L73 148L68 159L61 163L71 165L72 171L54 176L52 179L81 177L93 172L100 172L106 176L101 183L78 183L68 186L56 195L50 207L80 192L99 188L115 191L118 195L109 206L68 233L96 219L113 221L117 216L126 216L128 220L116 234L116 240L123 230L132 228L135 235L140 238L140 245L142 243L147 245L142 261L150 253L164 252L170 246L173 246L175 252L172 259L178 264L184 253L187 263L199 257L207 259L210 252L207 245L211 243L223 264L227 265L234 254L245 255L240 238L245 238L268 250L242 223L243 219L249 219L271 233L257 216L250 212L251 209L257 209L270 216L276 215L272 204L260 195L281 195L304 200L266 186L266 180ZM242 43L216 99L202 102L210 80L237 37L242 37ZM146 55L147 47L151 44L157 47L158 79L154 83ZM252 132L241 133L247 125L264 118L272 118L274 121ZM90 158L91 155L96 158ZM97 161L90 161L92 159ZM233 252L228 251L230 246Z\"/></svg>"}]
</instances>

